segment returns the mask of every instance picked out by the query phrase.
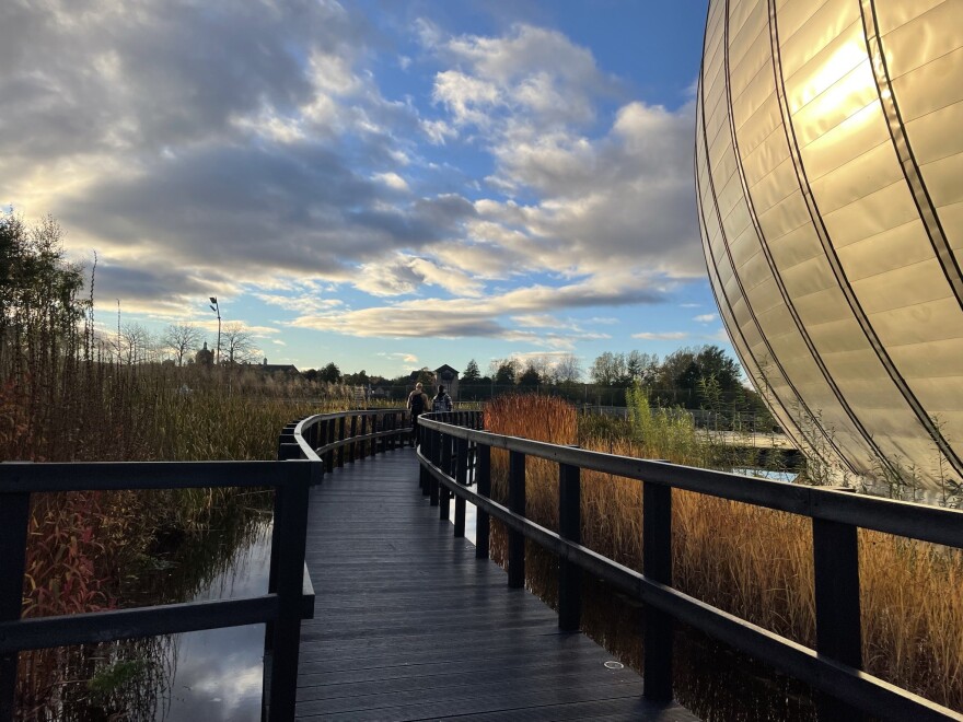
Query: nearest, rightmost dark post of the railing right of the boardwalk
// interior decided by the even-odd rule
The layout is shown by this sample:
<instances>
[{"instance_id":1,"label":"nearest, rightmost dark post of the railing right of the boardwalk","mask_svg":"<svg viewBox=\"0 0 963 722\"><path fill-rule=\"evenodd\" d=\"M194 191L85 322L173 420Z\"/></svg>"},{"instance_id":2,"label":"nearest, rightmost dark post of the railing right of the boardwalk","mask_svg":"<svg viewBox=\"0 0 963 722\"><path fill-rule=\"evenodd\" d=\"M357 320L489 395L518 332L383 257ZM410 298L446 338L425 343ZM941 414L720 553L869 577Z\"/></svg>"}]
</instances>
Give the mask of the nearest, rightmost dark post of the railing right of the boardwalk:
<instances>
[{"instance_id":1,"label":"nearest, rightmost dark post of the railing right of the boardwalk","mask_svg":"<svg viewBox=\"0 0 963 722\"><path fill-rule=\"evenodd\" d=\"M851 524L813 517L816 652L862 668L859 610L859 538ZM819 695L820 720L858 720L851 707Z\"/></svg>"}]
</instances>

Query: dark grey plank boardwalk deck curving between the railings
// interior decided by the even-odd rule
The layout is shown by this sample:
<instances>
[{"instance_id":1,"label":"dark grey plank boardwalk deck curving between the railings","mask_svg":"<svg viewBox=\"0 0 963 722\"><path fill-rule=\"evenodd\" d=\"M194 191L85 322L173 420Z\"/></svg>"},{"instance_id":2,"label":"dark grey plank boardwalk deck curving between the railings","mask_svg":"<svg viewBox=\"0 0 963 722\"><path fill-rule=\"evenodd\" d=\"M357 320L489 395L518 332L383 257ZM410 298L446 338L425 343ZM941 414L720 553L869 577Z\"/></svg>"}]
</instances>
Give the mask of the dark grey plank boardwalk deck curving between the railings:
<instances>
[{"instance_id":1,"label":"dark grey plank boardwalk deck curving between the railings","mask_svg":"<svg viewBox=\"0 0 963 722\"><path fill-rule=\"evenodd\" d=\"M418 489L413 450L325 476L312 493L298 719L695 719L455 539Z\"/></svg>"}]
</instances>

